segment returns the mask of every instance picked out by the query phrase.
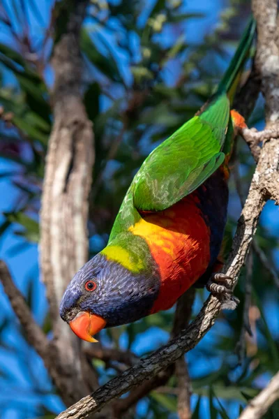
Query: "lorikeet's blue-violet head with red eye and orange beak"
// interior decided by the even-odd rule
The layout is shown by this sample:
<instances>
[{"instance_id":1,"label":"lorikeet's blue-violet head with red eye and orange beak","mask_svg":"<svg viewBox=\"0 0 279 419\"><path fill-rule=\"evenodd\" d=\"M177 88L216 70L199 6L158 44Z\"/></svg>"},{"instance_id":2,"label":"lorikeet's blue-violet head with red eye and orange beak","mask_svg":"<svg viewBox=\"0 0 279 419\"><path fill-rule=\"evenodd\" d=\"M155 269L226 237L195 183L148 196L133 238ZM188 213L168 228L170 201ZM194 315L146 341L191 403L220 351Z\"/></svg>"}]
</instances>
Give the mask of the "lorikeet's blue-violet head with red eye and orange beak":
<instances>
[{"instance_id":1,"label":"lorikeet's blue-violet head with red eye and orange beak","mask_svg":"<svg viewBox=\"0 0 279 419\"><path fill-rule=\"evenodd\" d=\"M98 253L70 281L60 316L78 337L93 342L93 335L105 327L147 316L158 291L156 272L135 274Z\"/></svg>"}]
</instances>

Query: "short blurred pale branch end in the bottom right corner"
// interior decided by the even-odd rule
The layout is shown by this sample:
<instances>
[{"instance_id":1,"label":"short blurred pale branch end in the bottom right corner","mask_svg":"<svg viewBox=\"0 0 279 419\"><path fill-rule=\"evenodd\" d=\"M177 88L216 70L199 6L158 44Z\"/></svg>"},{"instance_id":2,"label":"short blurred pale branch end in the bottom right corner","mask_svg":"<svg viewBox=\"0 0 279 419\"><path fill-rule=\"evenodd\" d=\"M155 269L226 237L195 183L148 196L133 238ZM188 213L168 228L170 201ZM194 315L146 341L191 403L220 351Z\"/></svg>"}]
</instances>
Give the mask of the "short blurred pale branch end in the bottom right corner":
<instances>
[{"instance_id":1,"label":"short blurred pale branch end in the bottom right corner","mask_svg":"<svg viewBox=\"0 0 279 419\"><path fill-rule=\"evenodd\" d=\"M279 399L279 372L273 376L266 388L250 401L239 419L259 419Z\"/></svg>"}]
</instances>

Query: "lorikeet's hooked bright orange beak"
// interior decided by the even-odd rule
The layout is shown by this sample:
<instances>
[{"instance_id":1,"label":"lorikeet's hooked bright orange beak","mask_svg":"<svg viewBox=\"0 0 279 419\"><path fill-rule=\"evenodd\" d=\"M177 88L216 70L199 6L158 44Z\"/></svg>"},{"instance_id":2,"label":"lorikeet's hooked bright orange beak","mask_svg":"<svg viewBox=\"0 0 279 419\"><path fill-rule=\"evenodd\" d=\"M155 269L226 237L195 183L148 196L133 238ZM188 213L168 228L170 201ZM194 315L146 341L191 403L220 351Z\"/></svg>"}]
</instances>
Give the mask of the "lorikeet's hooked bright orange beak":
<instances>
[{"instance_id":1,"label":"lorikeet's hooked bright orange beak","mask_svg":"<svg viewBox=\"0 0 279 419\"><path fill-rule=\"evenodd\" d=\"M93 338L93 335L105 328L106 324L103 317L91 314L89 311L81 311L69 323L75 335L88 342L98 342Z\"/></svg>"}]
</instances>

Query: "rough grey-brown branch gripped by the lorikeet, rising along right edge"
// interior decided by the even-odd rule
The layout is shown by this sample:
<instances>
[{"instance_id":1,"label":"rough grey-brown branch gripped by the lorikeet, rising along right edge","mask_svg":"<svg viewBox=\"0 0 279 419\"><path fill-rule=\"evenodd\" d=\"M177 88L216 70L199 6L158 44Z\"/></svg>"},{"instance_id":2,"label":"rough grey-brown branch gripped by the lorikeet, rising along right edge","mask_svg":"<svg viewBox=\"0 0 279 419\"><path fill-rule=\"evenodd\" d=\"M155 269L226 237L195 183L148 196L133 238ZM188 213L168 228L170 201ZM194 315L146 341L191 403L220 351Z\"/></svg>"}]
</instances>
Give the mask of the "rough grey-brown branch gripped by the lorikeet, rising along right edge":
<instances>
[{"instance_id":1,"label":"rough grey-brown branch gripped by the lorikeet, rising along right edge","mask_svg":"<svg viewBox=\"0 0 279 419\"><path fill-rule=\"evenodd\" d=\"M279 119L279 54L276 43L277 3L274 0L253 1L253 10L257 18L258 49L255 67L260 80L262 92L266 98L266 127L277 130ZM245 263L252 237L255 235L259 215L269 198L279 202L279 142L277 138L263 141L259 150L257 167L252 177L246 203L241 212L234 236L232 251L225 263L223 272L233 278L236 286L239 272ZM144 381L152 380L159 372L178 360L181 355L190 351L213 326L222 308L222 301L211 295L204 307L190 326L183 330L167 345L160 348L148 358L123 372L100 387L92 395L84 397L70 409L61 413L57 419L85 419L90 413L98 411L108 402Z\"/></svg>"}]
</instances>

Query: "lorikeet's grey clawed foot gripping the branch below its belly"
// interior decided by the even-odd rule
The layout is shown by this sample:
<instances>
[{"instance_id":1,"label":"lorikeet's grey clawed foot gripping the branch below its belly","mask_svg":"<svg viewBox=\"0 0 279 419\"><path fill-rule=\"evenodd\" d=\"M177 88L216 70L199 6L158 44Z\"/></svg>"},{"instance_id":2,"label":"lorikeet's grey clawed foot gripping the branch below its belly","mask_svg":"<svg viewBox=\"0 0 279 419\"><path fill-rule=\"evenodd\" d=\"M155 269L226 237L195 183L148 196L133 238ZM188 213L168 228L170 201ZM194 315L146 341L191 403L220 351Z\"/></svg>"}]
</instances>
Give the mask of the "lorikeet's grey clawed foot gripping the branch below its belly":
<instances>
[{"instance_id":1,"label":"lorikeet's grey clawed foot gripping the branch below its belly","mask_svg":"<svg viewBox=\"0 0 279 419\"><path fill-rule=\"evenodd\" d=\"M220 272L213 274L206 288L210 293L221 297L223 309L234 310L239 304L239 299L232 295L232 277Z\"/></svg>"}]
</instances>

